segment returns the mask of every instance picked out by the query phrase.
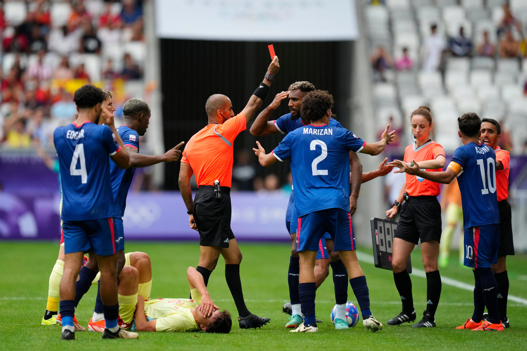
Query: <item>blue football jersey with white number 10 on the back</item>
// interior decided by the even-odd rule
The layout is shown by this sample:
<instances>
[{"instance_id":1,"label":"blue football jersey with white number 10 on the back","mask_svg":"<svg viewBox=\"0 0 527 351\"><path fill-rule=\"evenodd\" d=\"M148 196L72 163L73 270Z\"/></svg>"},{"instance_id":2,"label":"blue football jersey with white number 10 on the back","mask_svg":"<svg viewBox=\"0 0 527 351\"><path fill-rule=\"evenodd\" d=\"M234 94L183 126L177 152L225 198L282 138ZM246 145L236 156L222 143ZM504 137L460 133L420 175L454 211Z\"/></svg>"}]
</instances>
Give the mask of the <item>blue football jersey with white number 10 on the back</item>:
<instances>
[{"instance_id":1,"label":"blue football jersey with white number 10 on the back","mask_svg":"<svg viewBox=\"0 0 527 351\"><path fill-rule=\"evenodd\" d=\"M500 223L494 150L484 144L469 143L454 151L452 162L461 166L457 182L463 204L464 228Z\"/></svg>"}]
</instances>

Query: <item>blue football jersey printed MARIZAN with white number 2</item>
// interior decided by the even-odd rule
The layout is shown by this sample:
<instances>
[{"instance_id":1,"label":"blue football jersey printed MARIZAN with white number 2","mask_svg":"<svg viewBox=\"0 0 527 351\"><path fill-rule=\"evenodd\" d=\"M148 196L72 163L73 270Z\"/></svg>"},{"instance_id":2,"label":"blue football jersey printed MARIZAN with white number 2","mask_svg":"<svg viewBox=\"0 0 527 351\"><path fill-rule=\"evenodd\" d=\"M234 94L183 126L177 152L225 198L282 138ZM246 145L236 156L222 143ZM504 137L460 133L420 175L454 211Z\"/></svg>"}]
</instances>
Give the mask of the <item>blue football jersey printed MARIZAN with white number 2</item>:
<instances>
[{"instance_id":1,"label":"blue football jersey printed MARIZAN with white number 2","mask_svg":"<svg viewBox=\"0 0 527 351\"><path fill-rule=\"evenodd\" d=\"M274 149L291 158L298 217L327 208L349 211L349 151L366 143L345 128L307 125L290 132Z\"/></svg>"}]
</instances>

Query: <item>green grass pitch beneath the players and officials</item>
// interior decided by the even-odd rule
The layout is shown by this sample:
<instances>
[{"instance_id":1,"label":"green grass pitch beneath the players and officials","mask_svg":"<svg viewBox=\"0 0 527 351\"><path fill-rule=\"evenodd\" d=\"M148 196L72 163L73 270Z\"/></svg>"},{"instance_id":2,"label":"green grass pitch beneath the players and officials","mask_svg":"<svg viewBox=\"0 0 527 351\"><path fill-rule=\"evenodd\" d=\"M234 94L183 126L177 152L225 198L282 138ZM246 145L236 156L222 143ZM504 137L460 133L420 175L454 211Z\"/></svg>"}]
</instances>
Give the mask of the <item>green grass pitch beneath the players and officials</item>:
<instances>
[{"instance_id":1,"label":"green grass pitch beneath the players and officials","mask_svg":"<svg viewBox=\"0 0 527 351\"><path fill-rule=\"evenodd\" d=\"M370 292L371 308L384 328L372 333L362 323L349 330L335 330L330 321L334 305L333 282L328 277L317 290L317 317L324 320L315 334L291 334L284 328L287 315L281 312L288 300L287 267L289 245L239 243L243 260L241 279L246 303L251 312L270 317L261 329L242 330L233 323L228 335L206 333L140 333L138 340L102 340L99 333L76 333L77 340L60 339L60 326L40 324L47 297L47 283L58 252L58 243L6 242L0 244L0 350L526 350L527 305L509 300L508 316L511 328L504 332L472 332L455 330L472 315L472 292L443 282L435 328L387 326L386 321L397 315L401 303L393 283L392 273L362 262ZM186 297L189 295L186 268L198 263L198 243L127 242L127 250L144 251L151 256L153 268L152 298ZM359 252L372 254L369 247ZM457 264L452 253L451 264L441 269L444 278L473 285L471 270ZM508 257L510 295L527 299L527 255ZM421 252L414 250L412 262L422 269ZM213 301L227 308L237 318L235 304L225 283L224 264L214 270L209 291ZM414 303L418 319L426 302L426 280L412 275ZM86 326L90 319L96 289L87 293L76 315ZM351 288L348 300L355 303Z\"/></svg>"}]
</instances>

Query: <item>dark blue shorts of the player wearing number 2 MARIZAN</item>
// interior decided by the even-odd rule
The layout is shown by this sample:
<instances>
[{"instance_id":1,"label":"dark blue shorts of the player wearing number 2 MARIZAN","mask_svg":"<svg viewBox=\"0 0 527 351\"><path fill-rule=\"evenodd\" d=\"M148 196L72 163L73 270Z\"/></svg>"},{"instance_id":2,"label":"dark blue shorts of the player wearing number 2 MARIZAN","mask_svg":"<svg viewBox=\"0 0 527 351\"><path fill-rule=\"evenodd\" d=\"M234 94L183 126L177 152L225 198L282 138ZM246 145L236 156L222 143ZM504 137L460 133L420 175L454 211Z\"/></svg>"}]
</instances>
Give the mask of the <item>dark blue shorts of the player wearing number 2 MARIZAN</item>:
<instances>
[{"instance_id":1,"label":"dark blue shorts of the player wearing number 2 MARIZAN","mask_svg":"<svg viewBox=\"0 0 527 351\"><path fill-rule=\"evenodd\" d=\"M334 240L334 250L355 250L352 217L349 211L329 208L298 218L297 251L317 251L324 233Z\"/></svg>"}]
</instances>

